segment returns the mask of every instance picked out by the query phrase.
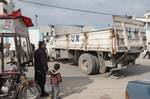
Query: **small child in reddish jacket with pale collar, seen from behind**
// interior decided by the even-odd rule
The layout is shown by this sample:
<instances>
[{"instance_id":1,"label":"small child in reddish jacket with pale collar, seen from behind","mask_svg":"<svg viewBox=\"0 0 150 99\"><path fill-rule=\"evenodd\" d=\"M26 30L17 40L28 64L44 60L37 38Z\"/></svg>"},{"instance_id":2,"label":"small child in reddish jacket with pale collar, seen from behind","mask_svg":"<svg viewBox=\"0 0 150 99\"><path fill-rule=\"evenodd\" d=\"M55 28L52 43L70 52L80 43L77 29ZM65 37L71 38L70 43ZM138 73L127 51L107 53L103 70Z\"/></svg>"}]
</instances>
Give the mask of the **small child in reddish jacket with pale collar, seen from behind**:
<instances>
[{"instance_id":1,"label":"small child in reddish jacket with pale collar, seen from behind","mask_svg":"<svg viewBox=\"0 0 150 99\"><path fill-rule=\"evenodd\" d=\"M52 99L58 99L59 97L59 84L62 82L62 77L59 72L60 65L55 64L54 69L50 71L50 81L52 88Z\"/></svg>"}]
</instances>

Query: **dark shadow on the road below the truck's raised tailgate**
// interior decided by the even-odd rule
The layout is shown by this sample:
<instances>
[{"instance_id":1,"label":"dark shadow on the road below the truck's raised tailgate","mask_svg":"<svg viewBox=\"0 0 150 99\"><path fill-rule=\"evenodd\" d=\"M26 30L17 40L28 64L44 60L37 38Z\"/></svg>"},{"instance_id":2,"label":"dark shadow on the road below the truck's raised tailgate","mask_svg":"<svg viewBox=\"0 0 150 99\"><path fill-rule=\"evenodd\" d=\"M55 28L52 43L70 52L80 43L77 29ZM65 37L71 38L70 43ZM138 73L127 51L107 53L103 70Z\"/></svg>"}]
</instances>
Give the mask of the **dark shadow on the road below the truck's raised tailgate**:
<instances>
[{"instance_id":1,"label":"dark shadow on the road below the truck's raised tailgate","mask_svg":"<svg viewBox=\"0 0 150 99\"><path fill-rule=\"evenodd\" d=\"M121 79L129 76L141 75L147 72L150 72L150 66L137 64L123 70L113 71L110 76L116 76L118 79Z\"/></svg>"}]
</instances>

